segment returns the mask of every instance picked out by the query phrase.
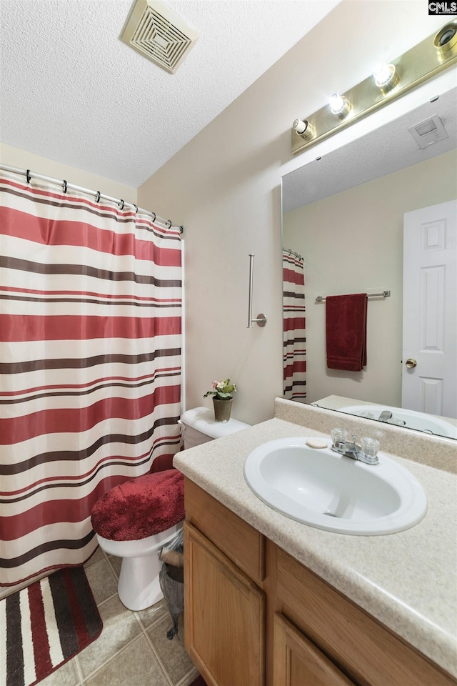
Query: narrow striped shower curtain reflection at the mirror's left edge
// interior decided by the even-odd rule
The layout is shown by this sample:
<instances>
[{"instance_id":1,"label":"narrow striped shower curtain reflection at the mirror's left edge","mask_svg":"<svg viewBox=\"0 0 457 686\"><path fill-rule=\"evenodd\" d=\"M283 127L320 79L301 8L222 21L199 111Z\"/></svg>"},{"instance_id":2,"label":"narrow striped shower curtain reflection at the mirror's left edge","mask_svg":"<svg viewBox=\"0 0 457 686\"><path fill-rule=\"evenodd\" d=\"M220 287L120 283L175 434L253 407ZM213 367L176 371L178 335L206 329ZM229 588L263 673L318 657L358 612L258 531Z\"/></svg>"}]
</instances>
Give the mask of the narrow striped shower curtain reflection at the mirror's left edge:
<instances>
[{"instance_id":1,"label":"narrow striped shower curtain reflection at the mirror's left edge","mask_svg":"<svg viewBox=\"0 0 457 686\"><path fill-rule=\"evenodd\" d=\"M303 258L283 250L283 392L306 398L305 277Z\"/></svg>"}]
</instances>

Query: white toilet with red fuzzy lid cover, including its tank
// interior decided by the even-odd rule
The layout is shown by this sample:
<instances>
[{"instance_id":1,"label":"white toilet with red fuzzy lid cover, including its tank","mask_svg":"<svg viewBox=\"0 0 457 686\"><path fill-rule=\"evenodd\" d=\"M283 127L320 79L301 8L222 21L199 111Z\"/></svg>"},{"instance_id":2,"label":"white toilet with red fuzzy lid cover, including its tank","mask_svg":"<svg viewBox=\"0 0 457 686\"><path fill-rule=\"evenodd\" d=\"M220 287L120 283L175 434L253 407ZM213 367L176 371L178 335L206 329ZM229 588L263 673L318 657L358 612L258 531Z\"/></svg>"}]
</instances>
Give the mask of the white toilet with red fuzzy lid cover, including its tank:
<instances>
[{"instance_id":1,"label":"white toilet with red fuzzy lid cover, including its tank","mask_svg":"<svg viewBox=\"0 0 457 686\"><path fill-rule=\"evenodd\" d=\"M184 449L248 427L237 419L216 422L207 407L187 410L180 423ZM159 553L179 534L184 516L184 476L177 469L129 479L94 504L91 522L101 550L122 558L118 594L129 610L144 610L164 597Z\"/></svg>"}]
</instances>

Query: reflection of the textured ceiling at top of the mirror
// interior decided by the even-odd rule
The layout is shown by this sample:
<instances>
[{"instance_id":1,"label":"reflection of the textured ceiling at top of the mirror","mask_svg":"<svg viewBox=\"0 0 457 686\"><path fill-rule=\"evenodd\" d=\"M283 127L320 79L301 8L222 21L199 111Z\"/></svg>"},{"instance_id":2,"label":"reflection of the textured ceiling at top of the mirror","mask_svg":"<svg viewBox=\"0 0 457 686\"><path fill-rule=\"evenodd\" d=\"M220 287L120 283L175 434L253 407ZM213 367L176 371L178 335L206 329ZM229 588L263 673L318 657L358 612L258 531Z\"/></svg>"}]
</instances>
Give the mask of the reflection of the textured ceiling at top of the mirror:
<instances>
[{"instance_id":1,"label":"reflection of the textured ceiling at top of the mirror","mask_svg":"<svg viewBox=\"0 0 457 686\"><path fill-rule=\"evenodd\" d=\"M283 212L316 202L385 174L397 172L457 147L457 88L441 94L351 144L342 146L282 179ZM421 149L408 131L437 114L448 138Z\"/></svg>"}]
</instances>

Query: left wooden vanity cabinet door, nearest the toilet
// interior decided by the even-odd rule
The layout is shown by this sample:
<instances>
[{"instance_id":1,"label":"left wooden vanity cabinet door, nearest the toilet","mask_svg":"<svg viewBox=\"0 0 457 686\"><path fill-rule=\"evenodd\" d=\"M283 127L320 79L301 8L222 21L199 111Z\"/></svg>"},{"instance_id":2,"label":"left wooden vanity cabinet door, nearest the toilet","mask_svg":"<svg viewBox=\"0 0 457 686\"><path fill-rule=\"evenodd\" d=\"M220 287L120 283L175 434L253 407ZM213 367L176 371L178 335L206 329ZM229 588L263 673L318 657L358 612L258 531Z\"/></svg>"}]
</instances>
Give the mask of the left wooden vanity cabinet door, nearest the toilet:
<instances>
[{"instance_id":1,"label":"left wooden vanity cabinet door, nearest the toilet","mask_svg":"<svg viewBox=\"0 0 457 686\"><path fill-rule=\"evenodd\" d=\"M184 522L186 650L211 686L263 686L265 595Z\"/></svg>"}]
</instances>

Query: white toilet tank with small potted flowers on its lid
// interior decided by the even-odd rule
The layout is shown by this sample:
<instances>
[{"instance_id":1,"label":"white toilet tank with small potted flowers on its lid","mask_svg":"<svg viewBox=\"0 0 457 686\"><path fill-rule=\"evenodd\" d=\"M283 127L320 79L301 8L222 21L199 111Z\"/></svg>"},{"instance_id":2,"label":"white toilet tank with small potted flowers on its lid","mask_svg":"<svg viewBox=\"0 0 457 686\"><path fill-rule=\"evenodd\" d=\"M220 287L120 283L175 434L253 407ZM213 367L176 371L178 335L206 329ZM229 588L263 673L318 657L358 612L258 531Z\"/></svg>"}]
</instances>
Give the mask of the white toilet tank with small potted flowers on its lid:
<instances>
[{"instance_id":1,"label":"white toilet tank with small potted flowers on its lid","mask_svg":"<svg viewBox=\"0 0 457 686\"><path fill-rule=\"evenodd\" d=\"M214 411L209 407L194 407L194 409L186 410L181 416L181 424L185 450L250 426L250 424L238 422L238 419L216 422Z\"/></svg>"}]
</instances>

